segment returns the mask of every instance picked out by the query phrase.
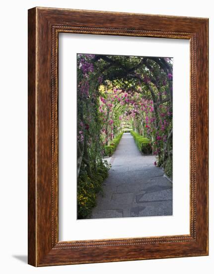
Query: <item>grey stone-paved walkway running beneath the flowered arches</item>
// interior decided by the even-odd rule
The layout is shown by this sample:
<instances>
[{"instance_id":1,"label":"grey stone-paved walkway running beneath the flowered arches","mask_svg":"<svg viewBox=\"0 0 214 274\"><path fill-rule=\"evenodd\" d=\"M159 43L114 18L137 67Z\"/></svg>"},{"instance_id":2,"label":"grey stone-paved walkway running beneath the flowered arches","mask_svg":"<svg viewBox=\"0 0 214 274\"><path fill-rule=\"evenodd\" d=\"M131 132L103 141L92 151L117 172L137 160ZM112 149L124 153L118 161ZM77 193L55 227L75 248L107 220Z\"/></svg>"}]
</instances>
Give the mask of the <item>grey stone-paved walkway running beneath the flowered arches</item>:
<instances>
[{"instance_id":1,"label":"grey stone-paved walkway running beneath the flowered arches","mask_svg":"<svg viewBox=\"0 0 214 274\"><path fill-rule=\"evenodd\" d=\"M172 183L154 161L142 156L131 134L123 134L91 218L172 215Z\"/></svg>"}]
</instances>

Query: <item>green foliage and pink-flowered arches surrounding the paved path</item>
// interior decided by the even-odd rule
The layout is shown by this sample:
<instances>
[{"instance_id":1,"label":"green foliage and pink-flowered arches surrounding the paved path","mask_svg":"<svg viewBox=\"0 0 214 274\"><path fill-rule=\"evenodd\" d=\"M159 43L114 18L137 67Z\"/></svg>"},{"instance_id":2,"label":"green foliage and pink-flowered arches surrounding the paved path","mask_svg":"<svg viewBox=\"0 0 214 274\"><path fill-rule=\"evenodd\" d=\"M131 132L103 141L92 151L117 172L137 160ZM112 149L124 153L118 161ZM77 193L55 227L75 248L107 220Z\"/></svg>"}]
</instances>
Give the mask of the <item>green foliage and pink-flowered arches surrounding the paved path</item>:
<instances>
[{"instance_id":1,"label":"green foliage and pink-flowered arches surrounding the paved path","mask_svg":"<svg viewBox=\"0 0 214 274\"><path fill-rule=\"evenodd\" d=\"M133 128L140 151L157 155L157 165L172 176L171 92L170 58L77 54L79 219L88 218L96 204L108 175L103 154L114 153L123 133L112 138L123 129Z\"/></svg>"}]
</instances>

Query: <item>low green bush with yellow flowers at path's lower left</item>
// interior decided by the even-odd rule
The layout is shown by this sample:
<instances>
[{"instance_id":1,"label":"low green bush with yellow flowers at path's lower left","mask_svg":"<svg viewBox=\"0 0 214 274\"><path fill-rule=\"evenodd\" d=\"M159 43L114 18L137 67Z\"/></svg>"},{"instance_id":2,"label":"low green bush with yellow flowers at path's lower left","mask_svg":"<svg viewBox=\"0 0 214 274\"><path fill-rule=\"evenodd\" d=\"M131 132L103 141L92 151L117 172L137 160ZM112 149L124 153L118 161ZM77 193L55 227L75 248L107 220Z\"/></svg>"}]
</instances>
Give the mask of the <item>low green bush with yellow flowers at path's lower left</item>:
<instances>
[{"instance_id":1,"label":"low green bush with yellow flowers at path's lower left","mask_svg":"<svg viewBox=\"0 0 214 274\"><path fill-rule=\"evenodd\" d=\"M96 205L96 194L102 191L102 183L108 176L107 163L100 164L90 178L86 171L81 171L77 184L77 218L88 218Z\"/></svg>"}]
</instances>

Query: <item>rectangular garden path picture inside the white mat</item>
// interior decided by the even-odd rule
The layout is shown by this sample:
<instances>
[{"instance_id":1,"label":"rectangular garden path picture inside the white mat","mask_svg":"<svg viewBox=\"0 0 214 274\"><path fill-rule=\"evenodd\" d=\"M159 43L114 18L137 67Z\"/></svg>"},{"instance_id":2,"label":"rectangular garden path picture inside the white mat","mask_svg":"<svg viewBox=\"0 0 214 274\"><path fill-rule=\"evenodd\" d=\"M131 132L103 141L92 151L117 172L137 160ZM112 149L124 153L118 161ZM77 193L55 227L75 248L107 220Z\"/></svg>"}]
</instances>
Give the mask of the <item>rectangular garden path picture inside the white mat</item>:
<instances>
[{"instance_id":1,"label":"rectangular garden path picture inside the white mat","mask_svg":"<svg viewBox=\"0 0 214 274\"><path fill-rule=\"evenodd\" d=\"M173 214L173 58L81 54L77 219Z\"/></svg>"}]
</instances>

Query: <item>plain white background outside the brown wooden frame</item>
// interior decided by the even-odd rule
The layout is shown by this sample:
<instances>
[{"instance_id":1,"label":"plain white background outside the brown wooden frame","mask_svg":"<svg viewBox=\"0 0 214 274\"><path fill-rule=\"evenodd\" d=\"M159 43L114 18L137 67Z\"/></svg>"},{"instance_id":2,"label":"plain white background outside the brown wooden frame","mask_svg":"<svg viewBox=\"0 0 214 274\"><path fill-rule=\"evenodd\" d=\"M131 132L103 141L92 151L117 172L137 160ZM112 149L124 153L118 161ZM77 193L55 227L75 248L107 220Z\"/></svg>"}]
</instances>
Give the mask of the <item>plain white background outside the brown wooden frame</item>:
<instances>
[{"instance_id":1,"label":"plain white background outside the brown wooden frame","mask_svg":"<svg viewBox=\"0 0 214 274\"><path fill-rule=\"evenodd\" d=\"M1 2L0 270L1 273L213 273L214 13L210 0L7 0ZM27 9L34 6L210 18L210 256L33 268L27 262ZM181 197L182 200L182 197Z\"/></svg>"}]
</instances>

